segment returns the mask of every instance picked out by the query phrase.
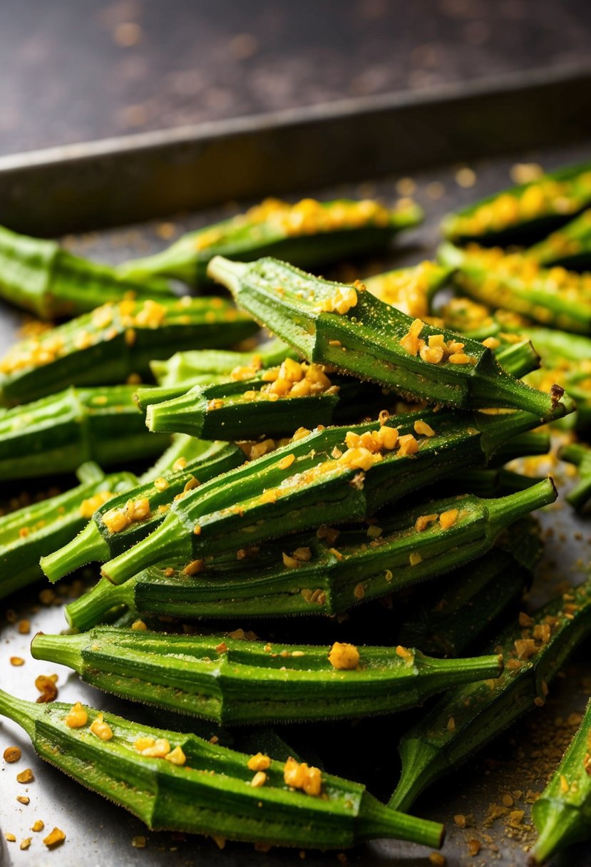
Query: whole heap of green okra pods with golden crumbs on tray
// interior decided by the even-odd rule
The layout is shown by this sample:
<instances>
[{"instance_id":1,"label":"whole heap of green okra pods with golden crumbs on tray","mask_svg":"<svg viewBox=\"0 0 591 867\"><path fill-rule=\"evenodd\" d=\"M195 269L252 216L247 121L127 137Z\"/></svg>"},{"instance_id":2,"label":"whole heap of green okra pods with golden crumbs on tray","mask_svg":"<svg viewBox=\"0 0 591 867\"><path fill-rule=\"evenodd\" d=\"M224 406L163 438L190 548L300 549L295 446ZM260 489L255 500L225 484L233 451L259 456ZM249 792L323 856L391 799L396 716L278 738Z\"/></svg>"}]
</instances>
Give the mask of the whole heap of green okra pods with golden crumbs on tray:
<instances>
[{"instance_id":1,"label":"whole heap of green okra pods with golden crumbs on tray","mask_svg":"<svg viewBox=\"0 0 591 867\"><path fill-rule=\"evenodd\" d=\"M442 846L423 792L544 714L591 632L591 580L529 603L559 492L520 461L559 447L584 512L591 163L526 167L447 215L435 260L380 273L410 199L266 199L116 266L0 229L0 297L29 316L0 359L0 478L28 487L0 516L0 596L83 575L30 652L96 688L0 690L43 759L220 846ZM320 276L344 263L353 282ZM588 711L532 818L510 814L533 863L591 837L590 738Z\"/></svg>"}]
</instances>

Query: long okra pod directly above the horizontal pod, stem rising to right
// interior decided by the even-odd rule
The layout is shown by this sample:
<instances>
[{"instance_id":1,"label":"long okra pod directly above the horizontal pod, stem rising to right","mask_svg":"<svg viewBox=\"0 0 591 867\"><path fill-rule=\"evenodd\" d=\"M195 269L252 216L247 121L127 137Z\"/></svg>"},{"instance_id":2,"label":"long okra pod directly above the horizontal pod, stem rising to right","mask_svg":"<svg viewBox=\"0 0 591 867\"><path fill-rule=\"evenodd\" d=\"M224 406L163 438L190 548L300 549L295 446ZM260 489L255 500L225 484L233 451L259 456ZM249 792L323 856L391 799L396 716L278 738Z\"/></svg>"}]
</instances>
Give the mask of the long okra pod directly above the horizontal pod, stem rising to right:
<instances>
[{"instance_id":1,"label":"long okra pod directly above the horizontal pod, stem rising to right","mask_svg":"<svg viewBox=\"0 0 591 867\"><path fill-rule=\"evenodd\" d=\"M554 499L547 479L501 499L438 500L380 525L321 528L188 565L161 552L159 566L117 586L103 578L66 614L77 629L121 605L183 618L339 614L482 556L505 526Z\"/></svg>"}]
</instances>

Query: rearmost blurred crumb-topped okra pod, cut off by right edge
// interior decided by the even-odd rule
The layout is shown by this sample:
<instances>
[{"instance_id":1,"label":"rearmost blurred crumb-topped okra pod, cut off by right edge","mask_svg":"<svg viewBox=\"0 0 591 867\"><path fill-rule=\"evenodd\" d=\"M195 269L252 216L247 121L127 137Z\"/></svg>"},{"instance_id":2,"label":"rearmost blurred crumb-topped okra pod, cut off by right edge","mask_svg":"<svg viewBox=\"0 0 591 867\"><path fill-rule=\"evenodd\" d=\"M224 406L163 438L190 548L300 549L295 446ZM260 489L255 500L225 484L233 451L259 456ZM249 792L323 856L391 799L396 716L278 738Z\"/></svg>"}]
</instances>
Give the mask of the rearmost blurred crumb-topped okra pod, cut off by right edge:
<instances>
[{"instance_id":1,"label":"rearmost blurred crumb-topped okra pod, cut off by right edge","mask_svg":"<svg viewBox=\"0 0 591 867\"><path fill-rule=\"evenodd\" d=\"M460 244L532 244L591 205L591 163L563 166L528 183L496 192L443 221Z\"/></svg>"}]
</instances>

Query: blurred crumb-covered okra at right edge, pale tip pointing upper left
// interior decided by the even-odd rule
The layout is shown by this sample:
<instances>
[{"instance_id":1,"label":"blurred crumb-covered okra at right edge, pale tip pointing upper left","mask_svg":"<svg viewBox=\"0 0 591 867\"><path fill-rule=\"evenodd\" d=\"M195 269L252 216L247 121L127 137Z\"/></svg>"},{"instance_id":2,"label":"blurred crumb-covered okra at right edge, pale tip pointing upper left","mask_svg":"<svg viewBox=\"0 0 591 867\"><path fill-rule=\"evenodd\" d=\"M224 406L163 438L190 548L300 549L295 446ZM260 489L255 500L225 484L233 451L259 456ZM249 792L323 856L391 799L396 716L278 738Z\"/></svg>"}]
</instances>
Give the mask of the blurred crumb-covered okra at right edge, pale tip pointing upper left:
<instances>
[{"instance_id":1,"label":"blurred crumb-covered okra at right edge, pale tip pointing upper left","mask_svg":"<svg viewBox=\"0 0 591 867\"><path fill-rule=\"evenodd\" d=\"M499 247L460 249L443 244L439 259L456 266L454 284L478 302L556 329L591 334L591 274L542 268L523 253L506 253Z\"/></svg>"}]
</instances>

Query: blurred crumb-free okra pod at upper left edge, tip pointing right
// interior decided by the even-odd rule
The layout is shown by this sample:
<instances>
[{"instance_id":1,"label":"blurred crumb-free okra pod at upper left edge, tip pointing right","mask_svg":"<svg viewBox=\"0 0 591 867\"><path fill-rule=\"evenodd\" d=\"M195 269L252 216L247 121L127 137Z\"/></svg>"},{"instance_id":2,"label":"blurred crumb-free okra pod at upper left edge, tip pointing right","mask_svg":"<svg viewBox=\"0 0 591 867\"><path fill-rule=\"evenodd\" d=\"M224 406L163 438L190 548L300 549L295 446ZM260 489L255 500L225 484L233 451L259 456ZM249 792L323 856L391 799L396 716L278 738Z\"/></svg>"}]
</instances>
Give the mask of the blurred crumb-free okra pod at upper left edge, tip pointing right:
<instances>
[{"instance_id":1,"label":"blurred crumb-free okra pod at upper left edge, tip pointing right","mask_svg":"<svg viewBox=\"0 0 591 867\"><path fill-rule=\"evenodd\" d=\"M141 299L170 294L166 281L136 283L110 265L74 256L55 241L0 226L0 296L42 319L77 316L128 295Z\"/></svg>"}]
</instances>

